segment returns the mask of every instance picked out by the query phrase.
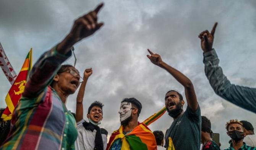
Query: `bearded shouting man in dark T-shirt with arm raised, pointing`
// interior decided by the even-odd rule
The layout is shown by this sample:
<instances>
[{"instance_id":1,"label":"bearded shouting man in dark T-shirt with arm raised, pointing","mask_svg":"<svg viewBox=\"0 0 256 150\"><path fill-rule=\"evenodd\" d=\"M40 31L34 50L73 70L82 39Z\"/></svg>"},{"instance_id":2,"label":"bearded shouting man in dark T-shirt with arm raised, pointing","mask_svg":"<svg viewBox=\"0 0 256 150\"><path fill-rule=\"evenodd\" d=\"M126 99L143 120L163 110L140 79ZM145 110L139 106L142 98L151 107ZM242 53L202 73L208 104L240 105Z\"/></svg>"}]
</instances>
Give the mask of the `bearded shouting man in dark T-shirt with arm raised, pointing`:
<instances>
[{"instance_id":1,"label":"bearded shouting man in dark T-shirt with arm raised, pointing","mask_svg":"<svg viewBox=\"0 0 256 150\"><path fill-rule=\"evenodd\" d=\"M149 49L148 51L151 56L147 55L147 57L154 65L168 71L183 85L188 103L184 112L183 105L185 101L180 93L170 90L165 94L165 107L170 117L173 118L172 125L165 134L167 150L171 150L173 145L178 150L199 150L201 143L201 111L192 82L180 71L163 62L160 55L154 54Z\"/></svg>"}]
</instances>

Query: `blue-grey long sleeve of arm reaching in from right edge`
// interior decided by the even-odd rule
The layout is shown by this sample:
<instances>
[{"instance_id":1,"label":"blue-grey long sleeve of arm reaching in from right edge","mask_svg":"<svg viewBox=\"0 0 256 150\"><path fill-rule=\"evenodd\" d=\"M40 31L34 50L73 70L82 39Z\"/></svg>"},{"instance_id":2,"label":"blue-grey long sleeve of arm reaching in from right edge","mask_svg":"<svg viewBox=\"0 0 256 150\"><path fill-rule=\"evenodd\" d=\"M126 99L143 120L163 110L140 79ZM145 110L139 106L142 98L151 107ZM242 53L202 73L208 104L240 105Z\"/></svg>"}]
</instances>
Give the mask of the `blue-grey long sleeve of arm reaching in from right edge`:
<instances>
[{"instance_id":1,"label":"blue-grey long sleeve of arm reaching in from right edge","mask_svg":"<svg viewBox=\"0 0 256 150\"><path fill-rule=\"evenodd\" d=\"M219 66L214 49L204 53L204 71L214 92L227 101L256 113L256 88L231 84Z\"/></svg>"}]
</instances>

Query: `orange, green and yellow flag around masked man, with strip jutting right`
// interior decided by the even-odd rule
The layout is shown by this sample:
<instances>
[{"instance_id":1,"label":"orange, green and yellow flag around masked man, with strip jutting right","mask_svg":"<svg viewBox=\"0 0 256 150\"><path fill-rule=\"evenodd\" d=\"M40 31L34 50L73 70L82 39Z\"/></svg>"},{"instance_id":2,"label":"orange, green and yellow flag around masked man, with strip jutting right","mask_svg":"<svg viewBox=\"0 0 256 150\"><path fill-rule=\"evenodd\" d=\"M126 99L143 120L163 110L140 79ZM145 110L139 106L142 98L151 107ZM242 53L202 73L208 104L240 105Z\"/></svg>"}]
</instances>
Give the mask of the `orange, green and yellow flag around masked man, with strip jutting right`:
<instances>
[{"instance_id":1,"label":"orange, green and yellow flag around masked man, with strip jutting right","mask_svg":"<svg viewBox=\"0 0 256 150\"><path fill-rule=\"evenodd\" d=\"M114 131L109 139L106 150L110 150L115 140L121 139L121 150L157 150L156 139L152 131L147 125L156 121L165 113L165 107L151 117L147 118L143 123L139 123L133 131L124 135L123 126Z\"/></svg>"}]
</instances>

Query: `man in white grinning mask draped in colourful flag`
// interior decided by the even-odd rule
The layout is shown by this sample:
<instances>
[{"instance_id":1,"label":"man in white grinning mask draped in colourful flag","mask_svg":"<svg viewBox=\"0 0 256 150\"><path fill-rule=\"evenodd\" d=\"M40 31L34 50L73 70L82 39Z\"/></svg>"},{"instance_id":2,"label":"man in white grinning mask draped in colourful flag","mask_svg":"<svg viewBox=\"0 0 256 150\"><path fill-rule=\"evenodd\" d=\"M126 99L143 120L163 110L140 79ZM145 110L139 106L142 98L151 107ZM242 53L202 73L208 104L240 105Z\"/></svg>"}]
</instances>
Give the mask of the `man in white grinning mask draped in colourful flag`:
<instances>
[{"instance_id":1,"label":"man in white grinning mask draped in colourful flag","mask_svg":"<svg viewBox=\"0 0 256 150\"><path fill-rule=\"evenodd\" d=\"M157 150L154 134L147 126L162 116L165 108L140 123L141 108L136 98L122 100L118 112L121 126L111 134L106 150Z\"/></svg>"}]
</instances>

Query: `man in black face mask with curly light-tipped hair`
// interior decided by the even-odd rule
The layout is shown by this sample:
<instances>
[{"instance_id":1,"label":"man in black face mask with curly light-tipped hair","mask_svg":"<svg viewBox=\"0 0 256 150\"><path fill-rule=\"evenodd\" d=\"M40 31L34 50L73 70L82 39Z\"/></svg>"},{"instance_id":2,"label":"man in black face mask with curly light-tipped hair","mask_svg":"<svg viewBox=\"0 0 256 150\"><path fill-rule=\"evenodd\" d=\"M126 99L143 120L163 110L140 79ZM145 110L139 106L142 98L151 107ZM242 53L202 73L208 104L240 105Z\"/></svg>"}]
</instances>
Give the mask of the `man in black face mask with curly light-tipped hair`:
<instances>
[{"instance_id":1,"label":"man in black face mask with curly light-tipped hair","mask_svg":"<svg viewBox=\"0 0 256 150\"><path fill-rule=\"evenodd\" d=\"M243 124L237 119L230 120L226 123L228 136L231 137L230 147L225 150L256 150L256 147L250 147L243 142L246 136Z\"/></svg>"}]
</instances>

